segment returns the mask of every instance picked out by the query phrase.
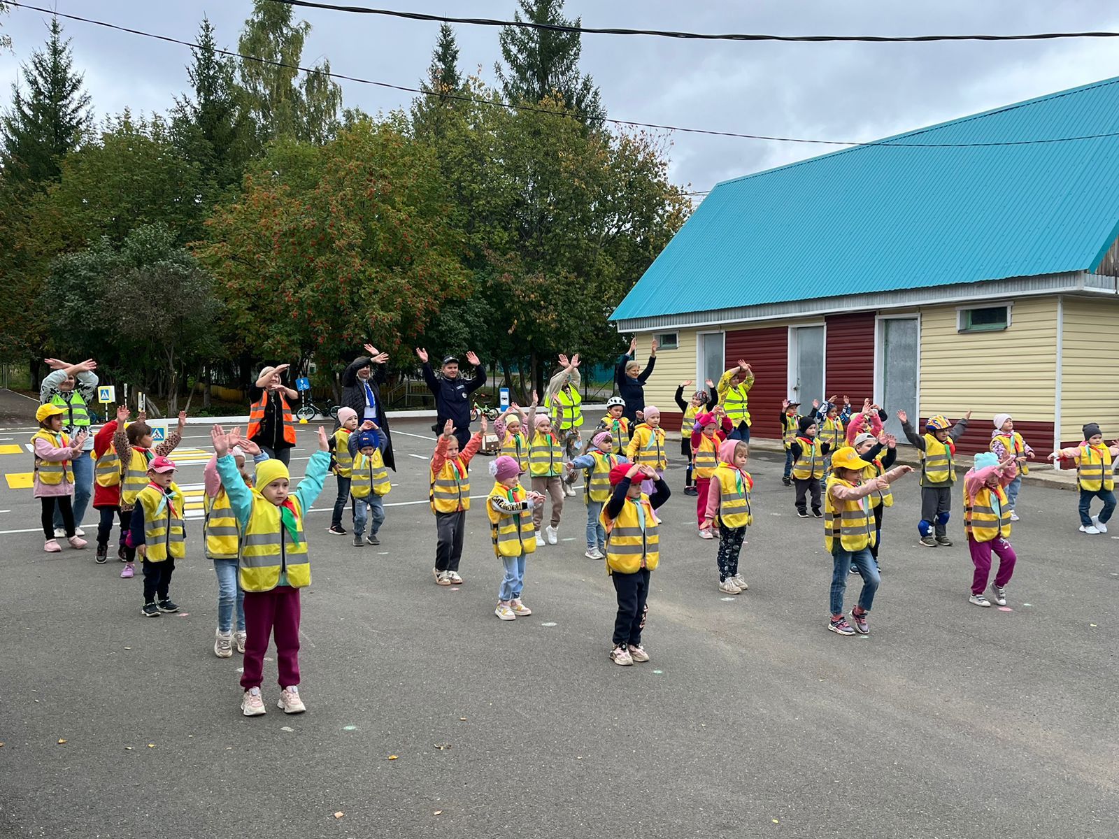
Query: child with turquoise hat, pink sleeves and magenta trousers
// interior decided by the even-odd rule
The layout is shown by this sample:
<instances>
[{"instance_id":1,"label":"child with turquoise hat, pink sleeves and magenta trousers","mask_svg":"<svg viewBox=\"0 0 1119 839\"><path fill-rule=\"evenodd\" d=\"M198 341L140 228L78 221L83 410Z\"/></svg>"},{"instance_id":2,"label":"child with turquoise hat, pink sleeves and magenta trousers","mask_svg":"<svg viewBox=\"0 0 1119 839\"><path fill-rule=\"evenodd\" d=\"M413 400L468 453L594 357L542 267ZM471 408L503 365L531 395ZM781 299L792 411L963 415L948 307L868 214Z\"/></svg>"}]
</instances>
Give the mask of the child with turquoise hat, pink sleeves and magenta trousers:
<instances>
[{"instance_id":1,"label":"child with turquoise hat, pink sleeves and magenta trousers","mask_svg":"<svg viewBox=\"0 0 1119 839\"><path fill-rule=\"evenodd\" d=\"M1003 460L994 452L980 452L976 464L963 475L963 531L968 537L971 564L976 566L971 577L970 603L990 606L984 595L990 578L991 552L998 555L998 573L990 584L995 603L1006 605L1006 584L1014 575L1017 557L1010 547L1010 499L1006 488L1017 477L1013 453Z\"/></svg>"}]
</instances>

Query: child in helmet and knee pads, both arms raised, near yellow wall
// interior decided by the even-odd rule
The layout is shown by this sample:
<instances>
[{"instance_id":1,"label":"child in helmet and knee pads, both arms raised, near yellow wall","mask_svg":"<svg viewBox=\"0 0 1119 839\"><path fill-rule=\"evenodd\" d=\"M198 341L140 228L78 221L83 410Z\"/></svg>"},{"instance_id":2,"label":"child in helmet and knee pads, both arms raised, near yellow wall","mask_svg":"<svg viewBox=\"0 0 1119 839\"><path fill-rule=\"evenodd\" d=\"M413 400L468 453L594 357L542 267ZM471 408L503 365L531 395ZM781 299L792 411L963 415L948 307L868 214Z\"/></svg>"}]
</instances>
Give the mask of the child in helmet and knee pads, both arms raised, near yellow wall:
<instances>
[{"instance_id":1,"label":"child in helmet and knee pads, both arms raised, near yellow wall","mask_svg":"<svg viewBox=\"0 0 1119 839\"><path fill-rule=\"evenodd\" d=\"M952 484L956 483L956 443L967 431L971 412L956 425L942 414L930 416L921 436L910 425L904 411L897 412L897 418L921 458L921 520L916 525L921 544L927 548L949 547L952 544L948 538L948 517L952 510Z\"/></svg>"}]
</instances>

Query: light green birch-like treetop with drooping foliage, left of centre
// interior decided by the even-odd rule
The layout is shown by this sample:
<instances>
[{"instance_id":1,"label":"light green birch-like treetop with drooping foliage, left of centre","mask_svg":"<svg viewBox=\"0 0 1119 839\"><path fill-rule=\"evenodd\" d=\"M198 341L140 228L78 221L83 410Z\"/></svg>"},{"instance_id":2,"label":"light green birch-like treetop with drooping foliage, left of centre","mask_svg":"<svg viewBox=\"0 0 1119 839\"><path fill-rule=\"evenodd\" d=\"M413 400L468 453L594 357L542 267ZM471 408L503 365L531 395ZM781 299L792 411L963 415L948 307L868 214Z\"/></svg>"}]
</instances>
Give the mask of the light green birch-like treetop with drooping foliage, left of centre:
<instances>
[{"instance_id":1,"label":"light green birch-like treetop with drooping foliage, left of centre","mask_svg":"<svg viewBox=\"0 0 1119 839\"><path fill-rule=\"evenodd\" d=\"M237 47L264 62L243 58L241 84L262 139L293 138L321 145L338 129L342 93L327 75L329 62L321 60L308 74L297 69L311 25L292 18L291 6L253 0Z\"/></svg>"}]
</instances>

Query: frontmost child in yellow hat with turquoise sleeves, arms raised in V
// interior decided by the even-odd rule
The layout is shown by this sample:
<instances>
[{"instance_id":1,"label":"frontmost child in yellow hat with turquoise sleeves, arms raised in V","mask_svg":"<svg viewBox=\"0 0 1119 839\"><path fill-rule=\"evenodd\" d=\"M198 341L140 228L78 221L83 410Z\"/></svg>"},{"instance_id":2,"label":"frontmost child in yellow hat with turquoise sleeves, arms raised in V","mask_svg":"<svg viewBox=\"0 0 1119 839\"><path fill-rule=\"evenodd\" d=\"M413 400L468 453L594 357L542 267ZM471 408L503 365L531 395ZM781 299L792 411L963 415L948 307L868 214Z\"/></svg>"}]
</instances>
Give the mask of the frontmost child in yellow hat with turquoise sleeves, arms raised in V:
<instances>
[{"instance_id":1,"label":"frontmost child in yellow hat with turquoise sleeves, arms raised in V","mask_svg":"<svg viewBox=\"0 0 1119 839\"><path fill-rule=\"evenodd\" d=\"M246 717L264 714L261 682L264 653L275 638L280 671L280 707L284 714L307 710L299 694L299 590L311 584L304 518L330 470L330 441L319 427L319 447L307 472L292 491L288 466L278 459L256 464L254 487L245 486L229 453L229 436L215 425L210 431L222 487L241 528L238 582L245 591L245 659L241 676L241 710Z\"/></svg>"}]
</instances>

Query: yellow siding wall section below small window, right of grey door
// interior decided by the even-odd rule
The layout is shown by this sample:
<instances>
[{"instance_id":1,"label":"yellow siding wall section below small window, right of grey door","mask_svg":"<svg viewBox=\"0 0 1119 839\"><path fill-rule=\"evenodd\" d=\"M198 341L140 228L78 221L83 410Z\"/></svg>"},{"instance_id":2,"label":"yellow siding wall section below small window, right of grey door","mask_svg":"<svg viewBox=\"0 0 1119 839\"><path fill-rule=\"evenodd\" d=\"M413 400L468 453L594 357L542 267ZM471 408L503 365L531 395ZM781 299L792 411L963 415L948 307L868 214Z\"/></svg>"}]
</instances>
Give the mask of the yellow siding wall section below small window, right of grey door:
<instances>
[{"instance_id":1,"label":"yellow siding wall section below small window, right of grey door","mask_svg":"<svg viewBox=\"0 0 1119 839\"><path fill-rule=\"evenodd\" d=\"M958 332L956 305L921 309L922 416L1051 423L1055 399L1055 296L1015 300L1009 328L991 332Z\"/></svg>"}]
</instances>

